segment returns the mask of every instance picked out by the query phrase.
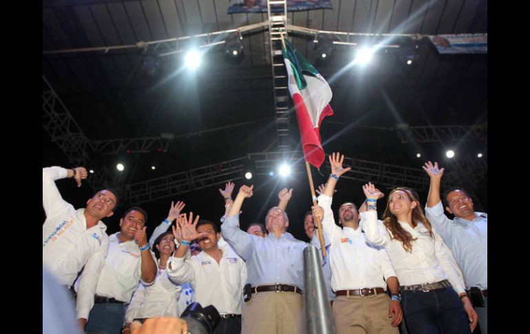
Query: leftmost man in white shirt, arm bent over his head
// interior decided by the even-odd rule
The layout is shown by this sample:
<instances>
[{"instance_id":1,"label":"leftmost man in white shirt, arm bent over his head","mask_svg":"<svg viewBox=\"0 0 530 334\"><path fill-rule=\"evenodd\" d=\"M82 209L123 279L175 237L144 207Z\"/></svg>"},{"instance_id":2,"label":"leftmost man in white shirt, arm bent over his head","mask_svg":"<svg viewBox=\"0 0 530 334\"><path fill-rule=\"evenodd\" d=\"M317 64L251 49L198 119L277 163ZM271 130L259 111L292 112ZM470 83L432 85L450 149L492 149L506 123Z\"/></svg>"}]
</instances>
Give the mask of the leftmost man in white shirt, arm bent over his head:
<instances>
[{"instance_id":1,"label":"leftmost man in white shirt, arm bent over his head","mask_svg":"<svg viewBox=\"0 0 530 334\"><path fill-rule=\"evenodd\" d=\"M55 180L61 178L74 178L81 187L87 170L43 168L43 265L59 284L70 289L83 266L99 275L97 263L105 258L109 247L107 226L101 220L114 214L118 196L116 191L103 189L87 200L85 209L76 210L63 200L55 185Z\"/></svg>"}]
</instances>

